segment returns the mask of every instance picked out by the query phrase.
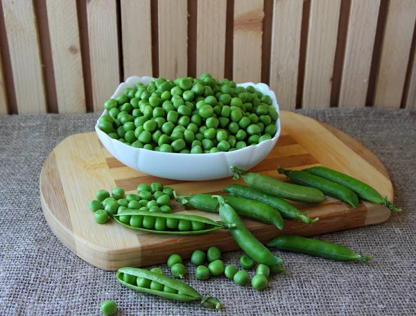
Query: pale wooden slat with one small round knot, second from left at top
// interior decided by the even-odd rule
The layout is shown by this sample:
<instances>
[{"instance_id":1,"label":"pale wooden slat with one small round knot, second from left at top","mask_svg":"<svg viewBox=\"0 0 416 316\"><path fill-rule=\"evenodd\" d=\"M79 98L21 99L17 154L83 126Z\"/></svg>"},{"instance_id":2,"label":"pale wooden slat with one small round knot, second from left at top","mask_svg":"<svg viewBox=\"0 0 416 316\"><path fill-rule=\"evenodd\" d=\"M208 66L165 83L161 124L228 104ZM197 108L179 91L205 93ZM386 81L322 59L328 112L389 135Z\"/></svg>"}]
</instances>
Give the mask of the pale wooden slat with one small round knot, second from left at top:
<instances>
[{"instance_id":1,"label":"pale wooden slat with one small round knot, second from left at top","mask_svg":"<svg viewBox=\"0 0 416 316\"><path fill-rule=\"evenodd\" d=\"M60 113L84 113L83 62L76 0L47 0L49 36Z\"/></svg>"}]
</instances>

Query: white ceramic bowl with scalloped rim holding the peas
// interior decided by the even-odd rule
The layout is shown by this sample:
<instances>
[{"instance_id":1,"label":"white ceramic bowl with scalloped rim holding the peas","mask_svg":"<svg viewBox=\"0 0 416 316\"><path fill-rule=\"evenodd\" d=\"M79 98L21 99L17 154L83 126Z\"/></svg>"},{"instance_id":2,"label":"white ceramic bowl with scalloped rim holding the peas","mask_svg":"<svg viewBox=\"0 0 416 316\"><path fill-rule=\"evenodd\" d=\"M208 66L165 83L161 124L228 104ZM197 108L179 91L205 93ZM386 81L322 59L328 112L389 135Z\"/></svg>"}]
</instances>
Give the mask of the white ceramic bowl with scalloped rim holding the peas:
<instances>
[{"instance_id":1,"label":"white ceramic bowl with scalloped rim holding the peas","mask_svg":"<svg viewBox=\"0 0 416 316\"><path fill-rule=\"evenodd\" d=\"M122 82L112 95L112 98L123 94L125 88L131 88L137 82L147 85L155 80L151 77L133 76ZM257 90L272 98L272 105L279 112L279 106L275 93L264 83L253 82L241 83L238 86L247 87L252 85ZM105 109L103 114L107 114ZM277 132L275 137L262 141L256 146L248 146L232 152L215 152L211 154L180 154L175 152L157 152L143 148L134 148L116 139L112 139L98 128L99 119L95 125L99 139L111 154L126 166L139 170L148 175L155 175L166 179L177 179L185 181L202 181L221 179L232 175L230 166L237 166L242 169L249 169L259 164L269 152L275 147L280 135L280 118L276 121Z\"/></svg>"}]
</instances>

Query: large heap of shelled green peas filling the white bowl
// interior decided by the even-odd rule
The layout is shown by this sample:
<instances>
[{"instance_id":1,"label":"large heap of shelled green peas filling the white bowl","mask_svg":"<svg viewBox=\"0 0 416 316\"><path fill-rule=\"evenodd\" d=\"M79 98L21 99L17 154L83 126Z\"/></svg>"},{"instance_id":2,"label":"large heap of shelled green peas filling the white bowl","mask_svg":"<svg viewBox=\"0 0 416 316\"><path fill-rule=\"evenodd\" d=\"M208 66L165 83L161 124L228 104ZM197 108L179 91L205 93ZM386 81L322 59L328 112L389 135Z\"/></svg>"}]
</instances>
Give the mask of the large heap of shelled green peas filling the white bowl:
<instances>
[{"instance_id":1,"label":"large heap of shelled green peas filling the white bowl","mask_svg":"<svg viewBox=\"0 0 416 316\"><path fill-rule=\"evenodd\" d=\"M256 145L275 136L279 116L270 96L209 73L157 78L105 101L98 128L135 148L202 154Z\"/></svg>"}]
</instances>

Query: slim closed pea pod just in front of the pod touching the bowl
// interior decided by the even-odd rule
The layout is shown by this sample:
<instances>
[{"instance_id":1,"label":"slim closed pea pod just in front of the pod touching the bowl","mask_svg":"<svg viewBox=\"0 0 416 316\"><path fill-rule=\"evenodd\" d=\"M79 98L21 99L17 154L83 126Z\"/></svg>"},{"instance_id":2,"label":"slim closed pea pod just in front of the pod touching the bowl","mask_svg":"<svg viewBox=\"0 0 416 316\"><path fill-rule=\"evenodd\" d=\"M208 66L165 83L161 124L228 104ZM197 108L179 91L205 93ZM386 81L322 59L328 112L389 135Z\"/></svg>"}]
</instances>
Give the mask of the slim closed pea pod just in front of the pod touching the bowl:
<instances>
[{"instance_id":1,"label":"slim closed pea pod just in front of the pod touching the bowl","mask_svg":"<svg viewBox=\"0 0 416 316\"><path fill-rule=\"evenodd\" d=\"M223 189L223 192L233 196L240 196L243 198L266 203L271 207L277 209L281 213L281 216L284 218L302 220L302 222L306 222L306 224L311 224L312 222L319 220L319 218L315 218L314 220L309 218L296 207L294 207L291 203L288 203L281 198L277 198L277 196L260 192L255 188L251 188L250 186L242 186L241 184L229 184L229 186Z\"/></svg>"}]
</instances>

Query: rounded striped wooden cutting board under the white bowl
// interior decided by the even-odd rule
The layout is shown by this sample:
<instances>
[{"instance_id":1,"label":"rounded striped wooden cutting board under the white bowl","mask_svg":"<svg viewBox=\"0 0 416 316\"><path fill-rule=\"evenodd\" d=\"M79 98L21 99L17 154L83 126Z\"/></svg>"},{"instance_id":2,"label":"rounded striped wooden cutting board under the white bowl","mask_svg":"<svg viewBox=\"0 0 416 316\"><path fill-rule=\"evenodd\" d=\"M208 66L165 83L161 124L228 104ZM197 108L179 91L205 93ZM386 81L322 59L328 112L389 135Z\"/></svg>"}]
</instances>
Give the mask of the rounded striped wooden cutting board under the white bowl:
<instances>
[{"instance_id":1,"label":"rounded striped wooden cutting board under the white bowl","mask_svg":"<svg viewBox=\"0 0 416 316\"><path fill-rule=\"evenodd\" d=\"M306 116L281 112L282 132L277 146L252 172L277 179L277 166L301 169L327 166L370 184L381 195L393 200L393 189L387 171L372 152L343 132ZM172 166L175 168L175 166ZM207 166L209 168L209 166ZM128 229L109 220L105 225L94 222L87 203L96 191L111 191L115 186L135 193L138 184L161 182L175 188L180 195L218 193L231 178L206 182L183 182L161 179L124 166L103 148L95 132L75 134L64 139L46 159L40 175L42 209L55 235L80 258L104 270L124 266L146 266L166 263L173 253L189 258L196 249L216 245L222 252L238 249L226 230L192 236L146 234ZM238 181L243 183L242 180ZM284 230L254 220L245 225L261 242L279 234L313 236L364 225L385 222L390 211L383 206L361 201L358 209L328 197L322 204L296 203L301 211L310 211L320 220L311 225L285 220ZM173 202L173 211L184 211ZM218 214L185 211L220 220ZM359 249L358 249L359 250Z\"/></svg>"}]
</instances>

